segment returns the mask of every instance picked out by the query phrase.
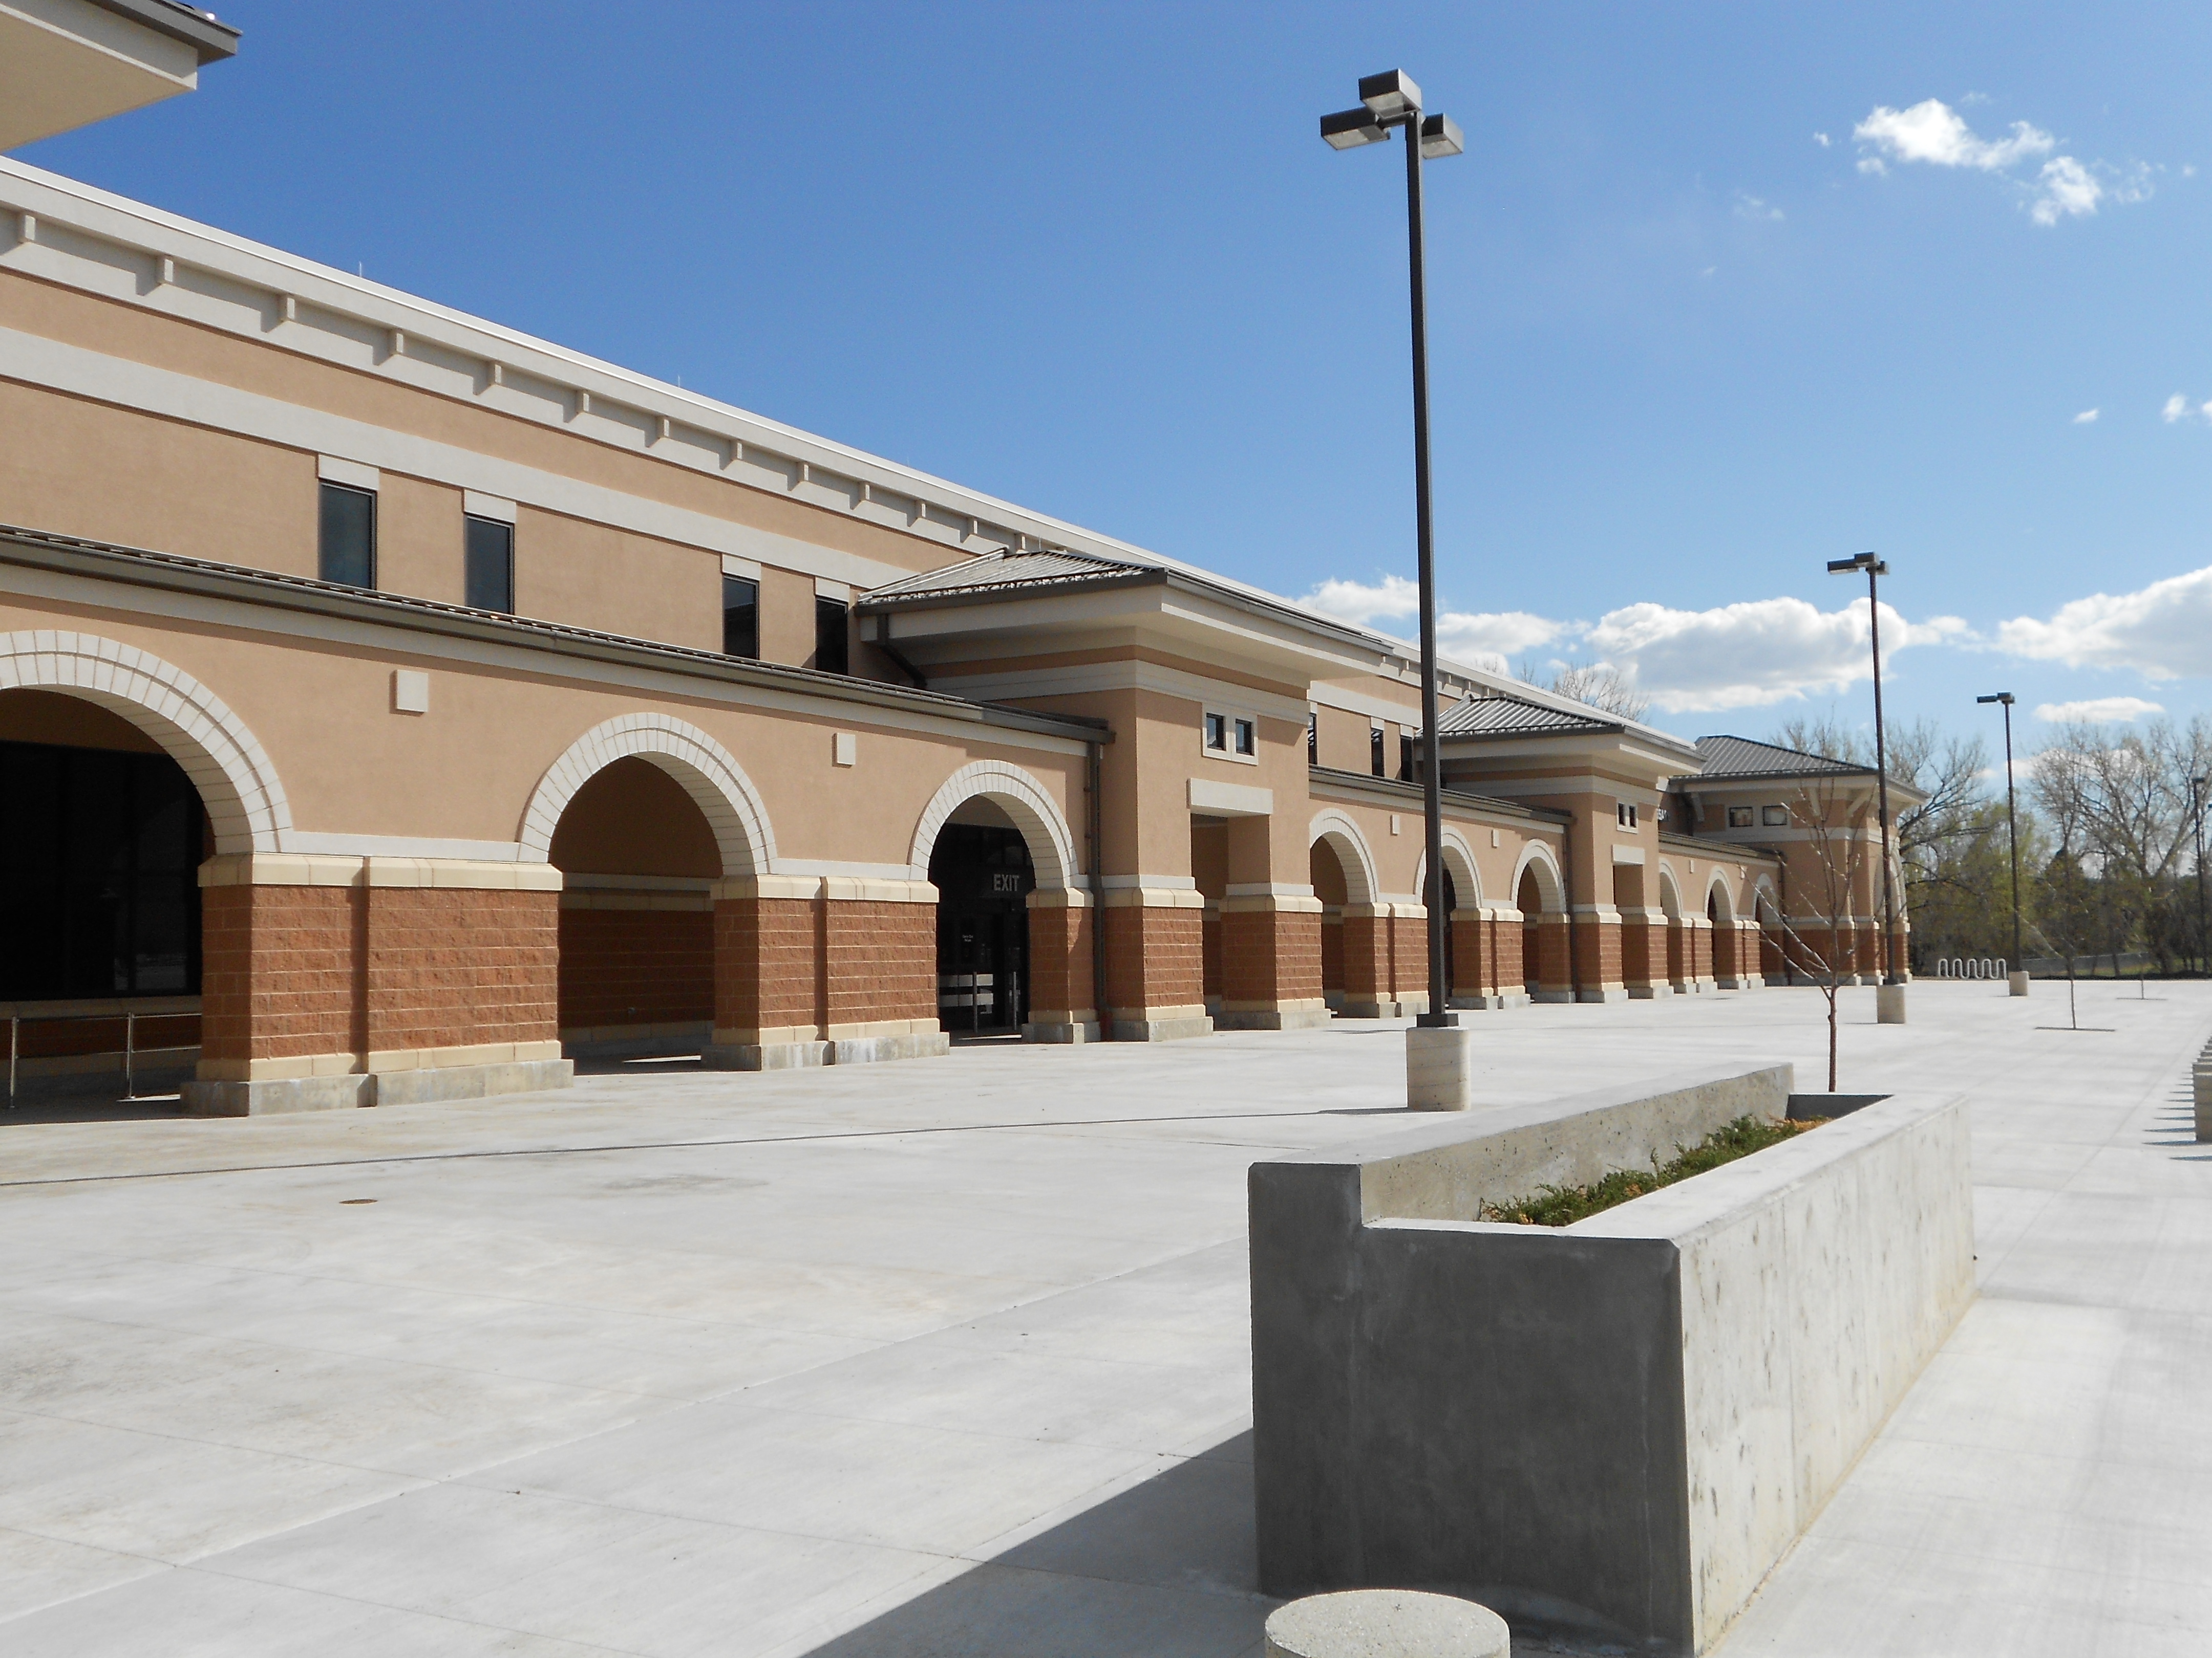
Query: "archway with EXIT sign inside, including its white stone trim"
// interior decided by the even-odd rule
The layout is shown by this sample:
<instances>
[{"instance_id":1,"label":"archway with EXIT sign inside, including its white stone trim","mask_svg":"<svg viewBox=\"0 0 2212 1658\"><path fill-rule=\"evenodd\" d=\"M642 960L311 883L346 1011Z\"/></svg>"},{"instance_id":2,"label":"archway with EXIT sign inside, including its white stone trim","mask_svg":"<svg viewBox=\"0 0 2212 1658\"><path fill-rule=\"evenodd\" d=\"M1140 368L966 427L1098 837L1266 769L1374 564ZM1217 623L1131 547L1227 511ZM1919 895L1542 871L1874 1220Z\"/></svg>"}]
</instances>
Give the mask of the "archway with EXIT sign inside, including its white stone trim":
<instances>
[{"instance_id":1,"label":"archway with EXIT sign inside, including its white stone trim","mask_svg":"<svg viewBox=\"0 0 2212 1658\"><path fill-rule=\"evenodd\" d=\"M1033 895L1082 886L1075 836L1046 787L978 760L931 798L909 864L938 889L938 1024L953 1037L1011 1037L1033 1008L1075 1001L1073 933L1035 951ZM1040 982L1042 975L1042 982ZM1042 999L1040 999L1042 997Z\"/></svg>"}]
</instances>

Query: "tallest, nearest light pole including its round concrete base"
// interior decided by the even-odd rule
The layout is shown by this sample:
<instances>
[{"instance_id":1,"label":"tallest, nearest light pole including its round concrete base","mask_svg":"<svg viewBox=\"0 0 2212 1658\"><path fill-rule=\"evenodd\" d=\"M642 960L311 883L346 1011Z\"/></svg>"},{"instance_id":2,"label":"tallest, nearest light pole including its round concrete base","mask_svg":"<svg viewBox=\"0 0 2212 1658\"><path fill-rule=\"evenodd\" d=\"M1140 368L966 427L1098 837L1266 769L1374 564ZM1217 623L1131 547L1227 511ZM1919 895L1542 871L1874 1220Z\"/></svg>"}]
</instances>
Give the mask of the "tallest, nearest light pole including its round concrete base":
<instances>
[{"instance_id":1,"label":"tallest, nearest light pole including its round concrete base","mask_svg":"<svg viewBox=\"0 0 2212 1658\"><path fill-rule=\"evenodd\" d=\"M1420 811L1429 875L1422 904L1429 911L1429 1010L1407 1032L1407 1105L1413 1110L1467 1110L1471 1066L1467 1032L1451 1010L1444 964L1444 802L1440 796L1436 734L1436 546L1429 515L1429 307L1420 245L1420 164L1460 155L1467 144L1449 115L1425 115L1420 86L1402 69L1360 77L1358 108L1321 117L1321 137L1336 150L1387 144L1405 133L1405 230L1407 270L1413 296L1413 524L1420 544ZM1451 1035L1431 1035L1451 1032Z\"/></svg>"}]
</instances>

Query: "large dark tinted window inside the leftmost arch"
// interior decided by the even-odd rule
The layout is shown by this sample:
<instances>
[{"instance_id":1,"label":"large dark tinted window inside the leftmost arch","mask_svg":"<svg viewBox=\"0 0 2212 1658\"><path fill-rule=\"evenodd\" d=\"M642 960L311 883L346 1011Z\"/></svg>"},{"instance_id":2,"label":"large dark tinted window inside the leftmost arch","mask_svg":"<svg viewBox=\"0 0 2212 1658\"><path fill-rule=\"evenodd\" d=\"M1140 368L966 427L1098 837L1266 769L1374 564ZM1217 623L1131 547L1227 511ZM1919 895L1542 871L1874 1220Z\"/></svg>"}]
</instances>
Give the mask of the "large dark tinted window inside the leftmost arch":
<instances>
[{"instance_id":1,"label":"large dark tinted window inside the leftmost arch","mask_svg":"<svg viewBox=\"0 0 2212 1658\"><path fill-rule=\"evenodd\" d=\"M199 836L166 754L0 743L0 1001L199 990Z\"/></svg>"}]
</instances>

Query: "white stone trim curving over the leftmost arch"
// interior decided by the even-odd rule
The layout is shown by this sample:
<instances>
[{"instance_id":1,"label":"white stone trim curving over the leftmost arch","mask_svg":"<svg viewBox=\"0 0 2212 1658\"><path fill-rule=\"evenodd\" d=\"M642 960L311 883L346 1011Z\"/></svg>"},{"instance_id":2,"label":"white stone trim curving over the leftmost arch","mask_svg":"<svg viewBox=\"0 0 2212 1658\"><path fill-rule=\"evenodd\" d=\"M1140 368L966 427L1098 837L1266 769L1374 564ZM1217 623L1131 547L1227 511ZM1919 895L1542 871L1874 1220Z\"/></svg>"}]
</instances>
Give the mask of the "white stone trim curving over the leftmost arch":
<instances>
[{"instance_id":1,"label":"white stone trim curving over the leftmost arch","mask_svg":"<svg viewBox=\"0 0 2212 1658\"><path fill-rule=\"evenodd\" d=\"M184 767L223 856L290 851L276 765L223 699L153 652L91 632L0 634L0 690L53 690L119 714Z\"/></svg>"}]
</instances>

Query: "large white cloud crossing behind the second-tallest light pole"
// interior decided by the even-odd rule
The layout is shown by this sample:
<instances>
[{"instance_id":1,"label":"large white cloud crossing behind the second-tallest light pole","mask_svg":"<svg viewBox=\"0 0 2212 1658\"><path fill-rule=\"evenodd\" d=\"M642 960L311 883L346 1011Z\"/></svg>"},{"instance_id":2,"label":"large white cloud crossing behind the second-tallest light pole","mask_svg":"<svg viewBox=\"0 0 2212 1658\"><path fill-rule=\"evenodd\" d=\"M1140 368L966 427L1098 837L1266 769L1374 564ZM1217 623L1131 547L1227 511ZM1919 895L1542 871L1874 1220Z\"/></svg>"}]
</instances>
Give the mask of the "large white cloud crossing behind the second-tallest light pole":
<instances>
[{"instance_id":1,"label":"large white cloud crossing behind the second-tallest light pole","mask_svg":"<svg viewBox=\"0 0 2212 1658\"><path fill-rule=\"evenodd\" d=\"M1911 623L1882 606L1885 661L1964 632L1958 617ZM1865 599L1840 610L1818 610L1805 599L1752 599L1714 610L1632 604L1599 617L1582 646L1668 714L1834 694L1874 672Z\"/></svg>"}]
</instances>

